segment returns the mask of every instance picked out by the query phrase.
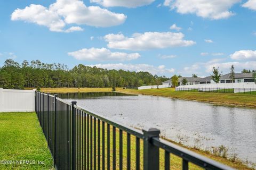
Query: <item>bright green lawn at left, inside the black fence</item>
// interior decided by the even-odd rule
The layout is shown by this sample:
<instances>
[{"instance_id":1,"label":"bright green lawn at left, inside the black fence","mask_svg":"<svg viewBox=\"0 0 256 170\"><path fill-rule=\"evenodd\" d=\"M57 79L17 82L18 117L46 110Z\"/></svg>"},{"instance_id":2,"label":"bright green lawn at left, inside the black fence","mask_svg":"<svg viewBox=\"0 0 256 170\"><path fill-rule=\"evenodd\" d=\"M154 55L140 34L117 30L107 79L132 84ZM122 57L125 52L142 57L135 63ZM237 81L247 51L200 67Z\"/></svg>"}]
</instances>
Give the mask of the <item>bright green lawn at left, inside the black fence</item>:
<instances>
[{"instance_id":1,"label":"bright green lawn at left, inside the black fence","mask_svg":"<svg viewBox=\"0 0 256 170\"><path fill-rule=\"evenodd\" d=\"M0 164L0 169L53 169L36 113L0 113L0 160L34 160L35 165ZM44 162L38 165L38 161Z\"/></svg>"}]
</instances>

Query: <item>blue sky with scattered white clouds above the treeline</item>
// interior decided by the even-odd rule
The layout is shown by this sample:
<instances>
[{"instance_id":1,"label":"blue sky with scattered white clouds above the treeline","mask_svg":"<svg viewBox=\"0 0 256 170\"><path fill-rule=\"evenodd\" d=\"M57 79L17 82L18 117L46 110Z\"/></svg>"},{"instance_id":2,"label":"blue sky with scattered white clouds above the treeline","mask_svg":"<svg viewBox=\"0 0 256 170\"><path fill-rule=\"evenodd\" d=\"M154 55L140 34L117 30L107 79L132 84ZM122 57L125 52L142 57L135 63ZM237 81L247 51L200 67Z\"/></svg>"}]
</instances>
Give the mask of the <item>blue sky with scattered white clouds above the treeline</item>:
<instances>
[{"instance_id":1,"label":"blue sky with scattered white clouds above the treeline","mask_svg":"<svg viewBox=\"0 0 256 170\"><path fill-rule=\"evenodd\" d=\"M0 1L0 63L201 77L256 70L256 0Z\"/></svg>"}]
</instances>

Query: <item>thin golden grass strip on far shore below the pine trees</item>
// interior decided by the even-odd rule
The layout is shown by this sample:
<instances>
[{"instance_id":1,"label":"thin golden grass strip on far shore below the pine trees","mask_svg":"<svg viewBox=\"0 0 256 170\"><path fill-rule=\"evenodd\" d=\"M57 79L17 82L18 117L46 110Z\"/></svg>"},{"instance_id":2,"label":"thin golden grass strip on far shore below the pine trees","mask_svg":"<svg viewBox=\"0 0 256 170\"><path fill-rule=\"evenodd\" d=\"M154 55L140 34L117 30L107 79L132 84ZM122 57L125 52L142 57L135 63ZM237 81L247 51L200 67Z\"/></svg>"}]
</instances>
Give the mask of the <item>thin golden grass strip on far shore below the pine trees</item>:
<instances>
[{"instance_id":1,"label":"thin golden grass strip on far shore below the pine trees","mask_svg":"<svg viewBox=\"0 0 256 170\"><path fill-rule=\"evenodd\" d=\"M26 88L33 89L33 88ZM121 90L122 88L116 88ZM112 88L41 88L41 92L49 93L67 93L67 92L111 92Z\"/></svg>"}]
</instances>

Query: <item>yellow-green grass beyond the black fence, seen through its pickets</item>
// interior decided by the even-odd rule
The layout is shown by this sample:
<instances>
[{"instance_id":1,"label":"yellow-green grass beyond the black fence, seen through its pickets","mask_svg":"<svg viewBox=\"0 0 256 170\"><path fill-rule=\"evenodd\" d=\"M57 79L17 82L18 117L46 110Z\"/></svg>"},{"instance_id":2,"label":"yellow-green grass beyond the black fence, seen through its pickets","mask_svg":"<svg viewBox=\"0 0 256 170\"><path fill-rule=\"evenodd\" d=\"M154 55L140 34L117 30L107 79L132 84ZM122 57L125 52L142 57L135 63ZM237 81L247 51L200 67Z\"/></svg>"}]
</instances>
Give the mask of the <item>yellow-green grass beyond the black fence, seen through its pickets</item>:
<instances>
[{"instance_id":1,"label":"yellow-green grass beyond the black fence, seen through its pickets","mask_svg":"<svg viewBox=\"0 0 256 170\"><path fill-rule=\"evenodd\" d=\"M82 118L79 119L80 121L78 122L86 122L86 125L84 124L83 126L83 131L85 132L86 130L86 133L87 133L87 120L86 118L84 118L84 121L82 121ZM78 141L78 146L80 146L79 148L83 148L84 150L82 150L80 152L81 149L78 148L78 155L81 156L81 160L82 160L82 155L83 155L83 159L85 159L85 162L82 164L79 164L78 166L79 167L86 167L87 166L87 163L88 166L90 167L91 166L91 159L89 159L89 162L87 162L87 139L89 139L89 151L92 147L92 157L94 157L94 121L92 121L92 133L91 133L91 121L89 119L89 133L87 133L89 135L89 138L88 136L85 134L86 133L83 133L83 131L79 131L78 129L78 139L81 139L80 141ZM105 135L105 140L104 140L104 143L105 143L105 157L102 158L102 122L100 122L100 125L98 123L98 121L95 121L95 127L96 127L96 152L95 152L95 160L96 160L96 169L98 169L98 126L100 126L100 167L102 168L102 159L105 160L105 164L103 166L105 166L105 169L107 169L107 124L105 123L105 132L104 132L104 135ZM115 143L116 145L113 146L113 143L114 143L114 139L113 139L113 133L115 132L115 137L116 137L116 140L115 140ZM90 139L91 139L91 135L92 135L92 143L90 142ZM122 159L122 162L123 162L123 169L127 169L127 133L126 132L122 132L122 135L123 135L123 142L122 142L122 145L123 145L123 159ZM109 162L110 162L110 169L113 169L113 148L115 148L116 150L116 162L115 162L115 166L116 166L116 169L119 169L119 160L120 160L120 157L119 157L119 151L120 151L120 145L119 145L119 129L116 128L116 130L114 131L113 129L113 126L109 126L109 145L110 145L110 159L109 159ZM84 139L84 140L83 140ZM131 139L131 169L136 169L136 137L134 135L131 135L130 136L130 139ZM143 140L140 139L140 169L143 169ZM177 144L177 143L175 143ZM83 147L82 147L83 146ZM181 146L181 145L179 145ZM249 168L245 165L243 165L241 162L231 162L230 160L228 160L227 158L222 158L222 157L218 157L218 156L214 156L212 154L209 154L207 152L203 152L203 151L199 151L197 149L193 149L193 148L187 148L191 151L194 151L194 152L197 152L197 154L200 154L200 155L203 155L205 157L209 157L217 162L220 162L222 164L226 164L228 166L231 166L233 168L236 168L236 169L252 169L252 168ZM90 152L89 152L90 153ZM86 155L86 158L85 158L85 155ZM89 158L91 158L91 155L89 154ZM165 156L164 156L164 150L163 149L159 149L159 169L164 169L165 168L165 160L164 160ZM92 167L94 167L94 159L92 159ZM182 169L182 159L176 155L173 155L173 154L170 154L170 168L171 169ZM192 164L192 163L189 163L189 169L204 169L204 168L201 168L201 167L198 167L197 165L195 164Z\"/></svg>"}]
</instances>

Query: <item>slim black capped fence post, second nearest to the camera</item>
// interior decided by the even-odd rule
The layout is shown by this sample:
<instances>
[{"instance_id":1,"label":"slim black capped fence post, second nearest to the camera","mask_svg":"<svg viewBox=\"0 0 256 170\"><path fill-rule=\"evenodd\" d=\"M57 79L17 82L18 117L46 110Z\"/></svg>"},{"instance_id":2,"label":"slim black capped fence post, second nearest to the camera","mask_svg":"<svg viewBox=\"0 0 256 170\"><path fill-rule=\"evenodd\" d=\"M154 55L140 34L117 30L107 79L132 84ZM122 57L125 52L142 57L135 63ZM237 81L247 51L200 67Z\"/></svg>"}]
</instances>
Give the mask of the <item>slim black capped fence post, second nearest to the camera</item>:
<instances>
[{"instance_id":1,"label":"slim black capped fence post, second nearest to the camera","mask_svg":"<svg viewBox=\"0 0 256 170\"><path fill-rule=\"evenodd\" d=\"M71 133L72 133L72 139L71 139L71 153L72 153L72 169L76 169L76 112L75 107L76 101L71 101L72 104L72 123L71 123Z\"/></svg>"}]
</instances>

